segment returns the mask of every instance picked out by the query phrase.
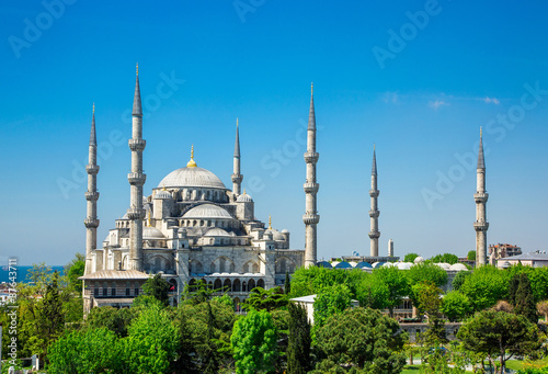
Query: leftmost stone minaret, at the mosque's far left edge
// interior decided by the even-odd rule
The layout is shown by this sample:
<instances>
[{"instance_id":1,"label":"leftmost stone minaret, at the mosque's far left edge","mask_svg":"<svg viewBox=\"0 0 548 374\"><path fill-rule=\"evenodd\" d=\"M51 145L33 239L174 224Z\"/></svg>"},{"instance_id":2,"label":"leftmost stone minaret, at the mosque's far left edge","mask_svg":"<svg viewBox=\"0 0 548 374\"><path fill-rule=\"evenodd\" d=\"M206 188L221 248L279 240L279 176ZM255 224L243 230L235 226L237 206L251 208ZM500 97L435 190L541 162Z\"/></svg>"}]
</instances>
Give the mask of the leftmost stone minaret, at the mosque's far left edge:
<instances>
[{"instance_id":1,"label":"leftmost stone minaret, at the mosque's far left edge","mask_svg":"<svg viewBox=\"0 0 548 374\"><path fill-rule=\"evenodd\" d=\"M88 201L87 217L83 222L85 225L85 269L84 274L93 272L91 268L91 253L98 247L98 139L95 133L95 104L93 104L93 115L91 117L91 134L89 148L89 163L85 166L88 172L88 191L85 200Z\"/></svg>"}]
</instances>

